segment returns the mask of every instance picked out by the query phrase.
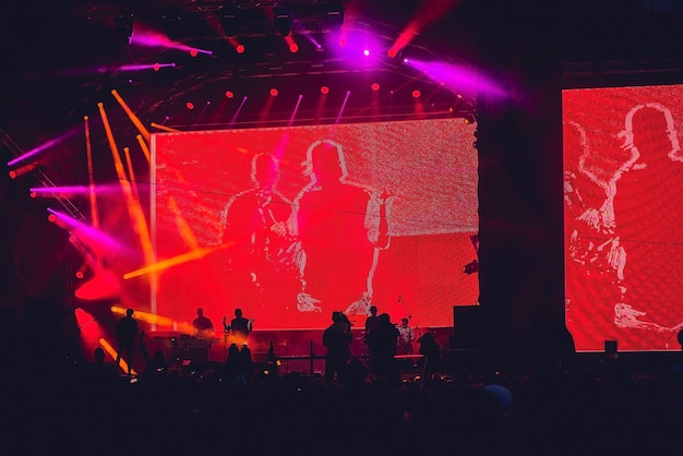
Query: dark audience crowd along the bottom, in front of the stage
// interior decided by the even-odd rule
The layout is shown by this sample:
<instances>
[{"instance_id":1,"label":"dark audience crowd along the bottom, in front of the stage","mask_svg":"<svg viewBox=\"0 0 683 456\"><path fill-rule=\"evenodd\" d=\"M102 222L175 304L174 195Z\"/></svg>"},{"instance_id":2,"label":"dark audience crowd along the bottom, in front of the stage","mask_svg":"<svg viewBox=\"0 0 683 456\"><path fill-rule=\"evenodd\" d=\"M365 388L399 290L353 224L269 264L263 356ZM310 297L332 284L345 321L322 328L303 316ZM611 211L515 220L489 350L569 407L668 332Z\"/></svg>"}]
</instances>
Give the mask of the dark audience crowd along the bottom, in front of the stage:
<instances>
[{"instance_id":1,"label":"dark audience crowd along the bottom, in front of the stage","mask_svg":"<svg viewBox=\"0 0 683 456\"><path fill-rule=\"evenodd\" d=\"M2 374L8 454L657 454L676 447L683 411L679 365L642 371L619 358L399 382L360 358L332 381L153 361L132 381L104 358Z\"/></svg>"}]
</instances>

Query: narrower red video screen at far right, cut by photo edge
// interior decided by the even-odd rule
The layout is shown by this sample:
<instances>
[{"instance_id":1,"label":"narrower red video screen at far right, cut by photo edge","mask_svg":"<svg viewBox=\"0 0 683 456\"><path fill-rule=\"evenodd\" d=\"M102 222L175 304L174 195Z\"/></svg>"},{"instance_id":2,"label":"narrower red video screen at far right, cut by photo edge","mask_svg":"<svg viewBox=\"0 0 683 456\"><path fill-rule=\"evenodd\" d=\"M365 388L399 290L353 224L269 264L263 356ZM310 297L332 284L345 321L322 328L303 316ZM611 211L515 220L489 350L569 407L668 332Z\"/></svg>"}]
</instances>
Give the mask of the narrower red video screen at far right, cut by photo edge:
<instances>
[{"instance_id":1,"label":"narrower red video screen at far right, cut by photo edge","mask_svg":"<svg viewBox=\"0 0 683 456\"><path fill-rule=\"evenodd\" d=\"M563 91L565 311L577 350L680 350L683 85Z\"/></svg>"}]
</instances>

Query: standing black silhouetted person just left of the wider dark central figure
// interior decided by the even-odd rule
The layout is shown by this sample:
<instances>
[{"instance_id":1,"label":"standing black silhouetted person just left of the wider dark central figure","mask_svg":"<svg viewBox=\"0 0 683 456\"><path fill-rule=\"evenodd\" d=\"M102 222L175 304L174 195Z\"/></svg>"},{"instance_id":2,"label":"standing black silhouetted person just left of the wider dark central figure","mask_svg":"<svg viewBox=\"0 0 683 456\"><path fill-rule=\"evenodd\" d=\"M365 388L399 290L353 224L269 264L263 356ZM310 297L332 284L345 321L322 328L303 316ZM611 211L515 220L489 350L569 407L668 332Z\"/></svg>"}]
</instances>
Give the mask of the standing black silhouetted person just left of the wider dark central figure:
<instances>
[{"instance_id":1,"label":"standing black silhouetted person just left of the wider dark central figure","mask_svg":"<svg viewBox=\"0 0 683 456\"><path fill-rule=\"evenodd\" d=\"M327 382L344 381L346 364L351 358L351 323L342 312L332 313L332 324L323 332L323 346L327 348L325 356L325 374Z\"/></svg>"}]
</instances>

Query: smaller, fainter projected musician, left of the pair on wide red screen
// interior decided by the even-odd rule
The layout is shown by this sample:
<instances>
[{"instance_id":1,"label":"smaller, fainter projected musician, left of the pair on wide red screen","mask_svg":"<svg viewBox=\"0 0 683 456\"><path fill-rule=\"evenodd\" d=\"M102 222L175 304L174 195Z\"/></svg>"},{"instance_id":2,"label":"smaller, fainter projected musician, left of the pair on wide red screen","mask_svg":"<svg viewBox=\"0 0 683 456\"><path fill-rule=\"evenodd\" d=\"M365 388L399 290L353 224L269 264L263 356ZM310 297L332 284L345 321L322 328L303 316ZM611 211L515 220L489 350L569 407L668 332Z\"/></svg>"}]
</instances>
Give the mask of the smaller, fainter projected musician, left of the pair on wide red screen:
<instances>
[{"instance_id":1,"label":"smaller, fainter projected musician, left of the pair on wide red screen","mask_svg":"<svg viewBox=\"0 0 683 456\"><path fill-rule=\"evenodd\" d=\"M295 300L300 289L302 261L293 203L277 190L279 177L273 155L255 155L254 187L232 196L223 211L219 241L235 242L228 259L232 304L268 309L287 301L286 297Z\"/></svg>"}]
</instances>

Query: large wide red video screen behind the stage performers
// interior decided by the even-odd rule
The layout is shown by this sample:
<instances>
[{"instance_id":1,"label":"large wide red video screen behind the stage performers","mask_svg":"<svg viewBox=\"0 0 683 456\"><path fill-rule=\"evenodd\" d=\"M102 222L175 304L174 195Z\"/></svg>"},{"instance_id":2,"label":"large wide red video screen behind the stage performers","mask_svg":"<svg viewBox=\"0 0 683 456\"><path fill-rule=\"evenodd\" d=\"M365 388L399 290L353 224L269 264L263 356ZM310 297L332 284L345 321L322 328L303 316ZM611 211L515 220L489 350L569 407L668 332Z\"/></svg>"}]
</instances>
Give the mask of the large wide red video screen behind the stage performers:
<instances>
[{"instance_id":1,"label":"large wide red video screen behind the stage performers","mask_svg":"<svg viewBox=\"0 0 683 456\"><path fill-rule=\"evenodd\" d=\"M219 327L453 325L479 298L475 125L462 119L159 133L151 310ZM157 327L157 329L168 329Z\"/></svg>"}]
</instances>

